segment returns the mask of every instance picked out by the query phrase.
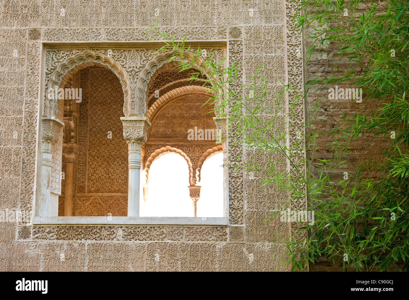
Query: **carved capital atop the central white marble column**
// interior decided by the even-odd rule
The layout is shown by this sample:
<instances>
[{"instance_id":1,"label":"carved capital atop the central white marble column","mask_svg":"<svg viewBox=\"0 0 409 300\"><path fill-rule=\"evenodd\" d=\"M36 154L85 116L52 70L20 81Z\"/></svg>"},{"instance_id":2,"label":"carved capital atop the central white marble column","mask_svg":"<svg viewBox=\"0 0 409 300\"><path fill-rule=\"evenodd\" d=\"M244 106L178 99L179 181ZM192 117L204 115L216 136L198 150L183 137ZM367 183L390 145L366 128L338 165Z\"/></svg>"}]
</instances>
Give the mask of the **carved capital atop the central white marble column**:
<instances>
[{"instance_id":1,"label":"carved capital atop the central white marble column","mask_svg":"<svg viewBox=\"0 0 409 300\"><path fill-rule=\"evenodd\" d=\"M121 117L124 138L129 151L141 151L142 144L148 139L151 122L146 117Z\"/></svg>"}]
</instances>

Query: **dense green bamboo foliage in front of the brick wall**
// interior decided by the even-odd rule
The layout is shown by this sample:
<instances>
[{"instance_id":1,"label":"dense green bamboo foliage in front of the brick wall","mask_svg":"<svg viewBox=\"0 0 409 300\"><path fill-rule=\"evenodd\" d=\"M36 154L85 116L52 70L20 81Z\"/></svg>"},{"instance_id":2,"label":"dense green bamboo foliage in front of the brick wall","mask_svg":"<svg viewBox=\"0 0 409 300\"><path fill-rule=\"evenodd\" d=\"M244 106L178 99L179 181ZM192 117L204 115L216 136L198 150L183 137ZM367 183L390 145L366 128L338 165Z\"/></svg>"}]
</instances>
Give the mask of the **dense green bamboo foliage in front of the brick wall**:
<instances>
[{"instance_id":1,"label":"dense green bamboo foliage in front of the brick wall","mask_svg":"<svg viewBox=\"0 0 409 300\"><path fill-rule=\"evenodd\" d=\"M338 49L340 59L351 63L345 73L335 71L334 64L330 74L309 84L322 87L352 82L363 88L365 101L380 107L367 116L357 105L356 111L344 116L346 125L331 132L333 160L319 162L328 169L319 176L309 174L313 186L319 188L313 193L310 189L309 194L315 224L308 228L306 244L298 247L299 257L305 260L326 257L340 261L346 253L344 267L364 271L384 270L397 261L405 267L409 262L409 103L405 98L409 86L409 4L397 0L386 5L320 0L299 4L299 25L303 29L314 27L310 55L320 45L331 45ZM348 16L344 16L344 9ZM357 166L347 180L331 182L325 177L329 169L336 169L338 160L348 157L350 145L363 134L382 138L389 146L378 160ZM317 167L314 159L312 165ZM290 260L299 259L291 256Z\"/></svg>"}]
</instances>

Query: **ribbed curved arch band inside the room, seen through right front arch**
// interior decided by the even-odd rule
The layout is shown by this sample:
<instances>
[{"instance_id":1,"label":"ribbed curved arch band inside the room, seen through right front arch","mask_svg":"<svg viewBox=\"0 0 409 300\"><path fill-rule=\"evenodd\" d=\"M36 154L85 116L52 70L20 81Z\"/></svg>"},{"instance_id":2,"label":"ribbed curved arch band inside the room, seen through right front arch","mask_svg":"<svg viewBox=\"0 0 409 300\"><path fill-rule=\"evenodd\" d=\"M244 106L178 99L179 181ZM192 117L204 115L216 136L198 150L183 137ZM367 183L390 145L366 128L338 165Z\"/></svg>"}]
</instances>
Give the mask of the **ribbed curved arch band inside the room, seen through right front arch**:
<instances>
[{"instance_id":1,"label":"ribbed curved arch band inside the room, seen through right front arch","mask_svg":"<svg viewBox=\"0 0 409 300\"><path fill-rule=\"evenodd\" d=\"M196 94L204 94L209 97L213 96L213 93L210 92L211 89L209 87L202 87L198 85L187 85L184 87L178 87L176 89L173 89L166 94L164 94L162 97L158 98L148 109L148 112L146 113L146 118L148 118L149 121L153 122L155 119L157 113L164 107L167 103L175 100L175 98L179 98L184 96L186 93L196 93Z\"/></svg>"}]
</instances>

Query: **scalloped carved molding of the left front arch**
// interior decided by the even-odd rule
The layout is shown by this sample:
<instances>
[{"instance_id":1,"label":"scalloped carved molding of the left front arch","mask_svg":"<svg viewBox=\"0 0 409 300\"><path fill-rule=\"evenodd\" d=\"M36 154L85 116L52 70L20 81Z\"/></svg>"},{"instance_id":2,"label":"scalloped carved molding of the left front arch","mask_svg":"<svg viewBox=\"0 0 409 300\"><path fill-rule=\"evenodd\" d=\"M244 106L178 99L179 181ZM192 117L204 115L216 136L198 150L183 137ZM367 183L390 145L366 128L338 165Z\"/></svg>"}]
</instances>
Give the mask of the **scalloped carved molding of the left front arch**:
<instances>
[{"instance_id":1,"label":"scalloped carved molding of the left front arch","mask_svg":"<svg viewBox=\"0 0 409 300\"><path fill-rule=\"evenodd\" d=\"M117 62L108 56L104 56L102 53L85 50L67 57L63 62L58 64L49 78L46 78L45 87L47 89L63 87L72 74L83 68L94 65L105 67L117 76L119 82L121 82L122 90L124 91L124 115L129 116L131 93L127 73ZM58 101L58 99L48 100L46 93L44 95L43 114L48 117L56 116L59 118L63 114L63 103Z\"/></svg>"}]
</instances>

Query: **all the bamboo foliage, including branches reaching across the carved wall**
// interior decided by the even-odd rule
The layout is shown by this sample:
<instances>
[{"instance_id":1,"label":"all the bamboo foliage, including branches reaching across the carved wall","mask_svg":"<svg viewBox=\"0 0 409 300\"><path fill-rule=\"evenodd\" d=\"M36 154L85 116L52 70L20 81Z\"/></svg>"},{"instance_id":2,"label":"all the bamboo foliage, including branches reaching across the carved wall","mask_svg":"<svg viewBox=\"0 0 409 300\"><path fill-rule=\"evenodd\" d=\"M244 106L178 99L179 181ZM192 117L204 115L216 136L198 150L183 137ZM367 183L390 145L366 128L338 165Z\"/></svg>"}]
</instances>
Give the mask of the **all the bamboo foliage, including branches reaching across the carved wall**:
<instances>
[{"instance_id":1,"label":"all the bamboo foliage, including branches reaching across the carved wall","mask_svg":"<svg viewBox=\"0 0 409 300\"><path fill-rule=\"evenodd\" d=\"M357 271L385 270L397 261L405 268L409 262L409 102L405 96L409 86L409 4L393 0L385 5L354 0L299 2L293 21L303 30L308 27L313 40L306 58L319 48L334 47L340 59L350 62L348 71L337 71L335 63L327 76L316 77L307 87L353 84L363 89L364 101L380 109L366 115L357 105L344 116L343 124L330 132L317 132L308 127L320 109L317 101L317 106L310 108L306 133L300 133L303 138L291 145L288 132L293 125L287 120L293 119L295 107L283 107L284 96L295 93L299 100L307 93L283 84L269 94L262 66L254 70L253 78L241 82L241 66L236 62L224 67L212 56L202 57L200 47L191 49L186 38L159 34L166 41L160 51L177 60L182 70L197 69L190 80L210 87L209 101L215 104L216 116L226 118L229 128L235 129L229 142L247 150L243 163L225 167L243 169L247 176L262 178L263 185L287 195L288 202L281 203L271 218L278 218L292 201L308 199L315 222L303 224L297 236L277 234L276 243L286 246L278 258L290 263L293 270L302 270L321 257ZM337 179L334 174L350 163L351 151L362 135L382 138L388 146L380 158L363 160L356 172ZM331 156L318 151L322 145L317 138L321 136L331 137L332 142L326 145Z\"/></svg>"}]
</instances>

